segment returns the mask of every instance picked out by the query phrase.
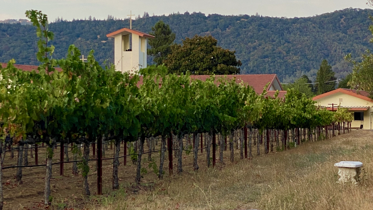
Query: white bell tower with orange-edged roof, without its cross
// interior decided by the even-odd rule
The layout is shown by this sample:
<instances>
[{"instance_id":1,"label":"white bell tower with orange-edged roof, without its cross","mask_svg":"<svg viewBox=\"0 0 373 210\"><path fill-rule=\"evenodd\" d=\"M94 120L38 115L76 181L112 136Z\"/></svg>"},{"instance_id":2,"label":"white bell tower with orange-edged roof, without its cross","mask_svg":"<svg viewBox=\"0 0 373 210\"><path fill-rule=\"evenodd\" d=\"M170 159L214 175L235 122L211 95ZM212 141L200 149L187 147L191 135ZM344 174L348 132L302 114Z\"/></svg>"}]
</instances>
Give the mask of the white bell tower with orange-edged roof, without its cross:
<instances>
[{"instance_id":1,"label":"white bell tower with orange-edged roof, without its cross","mask_svg":"<svg viewBox=\"0 0 373 210\"><path fill-rule=\"evenodd\" d=\"M130 35L132 36L131 47ZM147 67L147 39L154 38L154 36L122 28L107 34L106 37L114 38L114 65L117 71L134 73Z\"/></svg>"}]
</instances>

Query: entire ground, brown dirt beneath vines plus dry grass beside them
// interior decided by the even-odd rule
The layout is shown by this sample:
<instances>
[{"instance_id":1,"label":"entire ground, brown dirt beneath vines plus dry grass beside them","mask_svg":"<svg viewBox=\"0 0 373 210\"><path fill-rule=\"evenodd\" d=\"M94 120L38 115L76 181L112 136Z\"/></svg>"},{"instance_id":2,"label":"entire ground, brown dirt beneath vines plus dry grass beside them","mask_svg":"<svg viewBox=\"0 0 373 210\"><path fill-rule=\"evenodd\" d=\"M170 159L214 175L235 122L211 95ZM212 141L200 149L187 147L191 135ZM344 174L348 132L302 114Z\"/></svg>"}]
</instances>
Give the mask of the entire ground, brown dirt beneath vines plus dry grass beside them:
<instances>
[{"instance_id":1,"label":"entire ground, brown dirt beneath vines plus dry grass beside them","mask_svg":"<svg viewBox=\"0 0 373 210\"><path fill-rule=\"evenodd\" d=\"M107 157L111 157L110 152ZM139 187L133 184L132 163L121 164L121 189L117 191L111 190L112 162L105 161L104 195L90 198L81 197L81 176L72 176L69 164L63 177L58 176L58 165L55 165L51 180L54 200L50 209L373 210L373 132L369 130L353 130L332 139L303 143L288 151L267 155L261 152L260 156L253 151L253 154L251 160L239 160L236 150L236 161L230 163L229 151L225 151L225 165L217 160L215 168L207 168L204 152L198 158L198 173L192 171L192 153L185 154L184 172L170 177L166 163L163 180L158 180L145 162L143 167L147 173ZM55 156L59 154L56 152ZM159 157L154 154L153 158ZM363 162L358 186L336 183L338 169L333 165L342 160ZM176 171L176 161L174 163ZM44 173L44 167L26 168L23 184L12 187L15 170L4 170L4 180L12 182L4 190L5 209L38 209L35 206L43 199ZM94 172L90 174L91 192L95 192L96 176Z\"/></svg>"}]
</instances>

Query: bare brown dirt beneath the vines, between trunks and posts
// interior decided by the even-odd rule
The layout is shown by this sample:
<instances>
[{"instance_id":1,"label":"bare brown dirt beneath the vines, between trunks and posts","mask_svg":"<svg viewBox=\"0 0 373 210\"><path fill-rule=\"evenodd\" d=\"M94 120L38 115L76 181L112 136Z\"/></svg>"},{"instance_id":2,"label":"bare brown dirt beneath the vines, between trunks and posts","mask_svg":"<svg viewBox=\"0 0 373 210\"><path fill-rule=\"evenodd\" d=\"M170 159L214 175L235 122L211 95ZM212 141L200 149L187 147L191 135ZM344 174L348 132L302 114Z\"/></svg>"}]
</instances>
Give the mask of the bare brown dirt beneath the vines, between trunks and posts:
<instances>
[{"instance_id":1,"label":"bare brown dirt beneath the vines, between trunks and posts","mask_svg":"<svg viewBox=\"0 0 373 210\"><path fill-rule=\"evenodd\" d=\"M185 140L184 140L185 142ZM146 143L145 143L146 144ZM184 143L185 145L185 143ZM82 149L82 148L81 148ZM144 152L148 152L148 146L144 145ZM156 150L160 149L160 140L156 146ZM217 158L219 158L219 147L217 147ZM229 149L229 148L228 148ZM38 149L38 161L39 164L45 164L45 148ZM127 149L128 151L128 149ZM199 150L200 151L200 150ZM34 153L34 150L33 150ZM229 158L229 151L225 151L225 159ZM235 151L236 158L239 158L239 150ZM121 144L120 154L123 154L123 143ZM72 152L69 148L69 160L72 161ZM110 143L108 143L108 150L105 151L103 158L112 158L114 155L114 144L110 149ZM199 152L198 165L201 170L207 170L206 165L206 149L201 154ZM168 156L167 151L164 161L164 176L169 175L168 170ZM212 157L212 151L210 156ZM14 158L10 158L10 152L6 153L3 167L17 165L18 150L14 150ZM34 156L35 157L35 156ZM53 163L59 162L60 148L54 149ZM90 158L93 159L92 147L90 151ZM159 168L159 152L153 152L151 155L153 160L156 160L157 167ZM24 159L23 159L24 160ZM44 160L44 161L43 161ZM157 174L153 172L153 169L149 166L151 162L148 160L148 154L142 155L142 167L147 172L142 173L141 183L151 185L154 180L158 180ZM228 159L229 160L229 159ZM65 161L66 156L65 156ZM123 165L123 158L119 159L120 165L118 169L119 184L121 187L126 187L126 191L137 192L138 189L132 189L135 181L136 166L132 163L131 158L127 156L127 164ZM30 150L28 151L28 162L29 165L35 164L35 159L30 157ZM219 160L217 159L217 162ZM212 164L212 161L211 161ZM90 185L91 195L97 194L97 171L95 169L95 161L89 162L90 172L88 174L88 182ZM193 170L193 153L183 153L183 169L184 173L194 173ZM173 172L176 174L177 170L177 158L173 157ZM4 188L4 209L7 210L18 210L18 209L44 209L43 198L44 198L44 178L46 174L45 166L40 167L24 167L22 168L22 184L17 185L16 182L16 168L4 169L3 170L3 188ZM112 190L112 176L113 176L113 160L103 160L103 194L109 195ZM52 206L54 209L65 209L65 208L83 208L87 203L87 199L82 196L82 177L81 174L74 176L72 174L72 163L64 164L63 176L60 176L59 164L55 164L52 167L52 178L51 178L51 196L53 197ZM89 200L91 202L91 200Z\"/></svg>"}]
</instances>

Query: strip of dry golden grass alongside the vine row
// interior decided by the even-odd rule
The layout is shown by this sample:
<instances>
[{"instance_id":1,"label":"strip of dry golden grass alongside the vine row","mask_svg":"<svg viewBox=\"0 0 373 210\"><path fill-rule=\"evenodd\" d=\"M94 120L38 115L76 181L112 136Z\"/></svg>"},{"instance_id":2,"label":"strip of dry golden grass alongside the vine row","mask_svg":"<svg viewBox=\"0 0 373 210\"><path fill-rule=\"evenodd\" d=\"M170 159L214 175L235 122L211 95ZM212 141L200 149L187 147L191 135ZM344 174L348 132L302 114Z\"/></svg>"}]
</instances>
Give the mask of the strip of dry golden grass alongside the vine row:
<instances>
[{"instance_id":1,"label":"strip of dry golden grass alongside the vine row","mask_svg":"<svg viewBox=\"0 0 373 210\"><path fill-rule=\"evenodd\" d=\"M373 132L353 131L330 140L305 143L289 151L254 156L198 173L165 176L162 181L123 186L97 197L97 210L373 209ZM228 152L226 152L228 153ZM239 156L236 155L236 158ZM191 159L191 158L188 158ZM334 163L364 163L358 186L339 185ZM229 161L226 159L226 161Z\"/></svg>"}]
</instances>

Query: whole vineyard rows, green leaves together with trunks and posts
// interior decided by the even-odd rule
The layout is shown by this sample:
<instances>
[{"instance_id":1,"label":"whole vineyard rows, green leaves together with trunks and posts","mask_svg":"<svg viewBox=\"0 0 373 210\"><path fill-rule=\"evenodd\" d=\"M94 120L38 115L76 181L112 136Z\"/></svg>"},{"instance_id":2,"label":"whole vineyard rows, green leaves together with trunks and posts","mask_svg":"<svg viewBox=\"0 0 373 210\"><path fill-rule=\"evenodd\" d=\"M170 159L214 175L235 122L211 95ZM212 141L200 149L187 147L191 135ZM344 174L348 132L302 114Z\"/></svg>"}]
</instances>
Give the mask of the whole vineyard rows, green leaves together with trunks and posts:
<instances>
[{"instance_id":1,"label":"whole vineyard rows, green leaves together with trunks and posts","mask_svg":"<svg viewBox=\"0 0 373 210\"><path fill-rule=\"evenodd\" d=\"M165 160L169 162L170 175L174 173L174 157L175 173L183 172L183 154L193 155L192 168L197 172L198 164L214 167L216 160L223 163L225 150L233 162L235 149L239 149L241 159L251 158L255 151L260 155L261 145L267 154L350 130L352 115L347 109L320 109L295 90L289 90L285 98L278 98L277 94L271 98L265 91L258 95L234 79L215 79L211 75L206 81L192 80L189 75L167 74L164 66L122 74L115 71L114 65L102 68L93 52L87 62L82 62L73 45L66 58L53 59L54 46L48 44L53 33L48 30L47 16L35 10L26 15L37 27L37 58L42 65L37 72L26 72L16 69L12 60L0 69L0 177L3 170L16 167L19 185L22 168L45 166L44 204L53 199L50 194L55 164L60 166L60 175L64 164L72 165L72 173L82 177L84 195L92 194L88 176L97 169L100 195L103 179L111 179L112 189L119 189L120 158L123 165L129 160L136 165L134 181L140 185L146 171L142 164L145 154L150 168L162 179ZM43 152L39 155L40 147ZM12 166L4 160L15 149L18 160ZM59 161L53 162L58 149ZM69 150L73 160L65 161ZM113 158L103 158L103 152L108 151L112 151L108 154ZM202 152L206 153L206 162L198 160ZM159 161L152 158L152 153L159 154ZM29 154L34 156L35 164L25 166L23 158ZM103 161L109 160L111 178L103 177ZM3 188L0 192L2 208Z\"/></svg>"}]
</instances>

